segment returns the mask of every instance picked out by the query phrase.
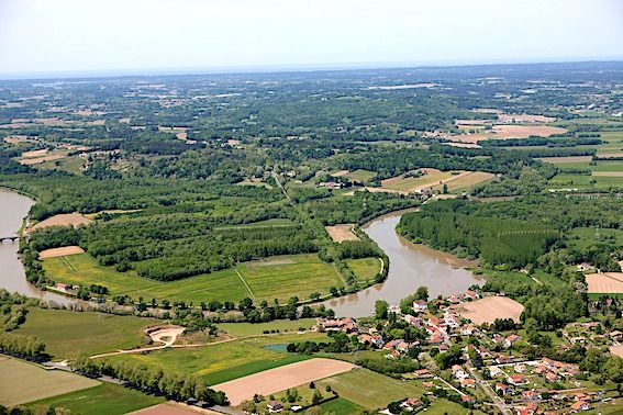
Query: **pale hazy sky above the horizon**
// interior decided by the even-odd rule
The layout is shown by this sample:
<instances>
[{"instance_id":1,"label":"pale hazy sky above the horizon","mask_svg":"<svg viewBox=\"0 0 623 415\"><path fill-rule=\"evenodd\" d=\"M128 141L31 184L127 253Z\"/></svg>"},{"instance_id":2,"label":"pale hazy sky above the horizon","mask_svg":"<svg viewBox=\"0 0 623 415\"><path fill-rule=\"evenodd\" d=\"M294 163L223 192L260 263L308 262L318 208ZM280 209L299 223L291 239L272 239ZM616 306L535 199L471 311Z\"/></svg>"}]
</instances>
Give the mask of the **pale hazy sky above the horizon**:
<instances>
[{"instance_id":1,"label":"pale hazy sky above the horizon","mask_svg":"<svg viewBox=\"0 0 623 415\"><path fill-rule=\"evenodd\" d=\"M600 59L621 0L0 0L0 78Z\"/></svg>"}]
</instances>

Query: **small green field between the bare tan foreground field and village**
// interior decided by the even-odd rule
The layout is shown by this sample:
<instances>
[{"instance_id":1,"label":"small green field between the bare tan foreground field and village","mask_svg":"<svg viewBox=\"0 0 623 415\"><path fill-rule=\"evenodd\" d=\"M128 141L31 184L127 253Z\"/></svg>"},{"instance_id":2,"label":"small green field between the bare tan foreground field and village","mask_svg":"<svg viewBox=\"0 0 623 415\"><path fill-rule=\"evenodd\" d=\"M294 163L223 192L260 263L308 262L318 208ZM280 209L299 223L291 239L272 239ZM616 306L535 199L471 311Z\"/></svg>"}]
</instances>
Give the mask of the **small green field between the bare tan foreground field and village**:
<instances>
[{"instance_id":1,"label":"small green field between the bare tan foreground field and village","mask_svg":"<svg viewBox=\"0 0 623 415\"><path fill-rule=\"evenodd\" d=\"M383 408L392 401L419 397L424 392L413 383L399 381L367 369L354 369L315 382L322 391L331 385L340 396L369 410Z\"/></svg>"}]
</instances>

